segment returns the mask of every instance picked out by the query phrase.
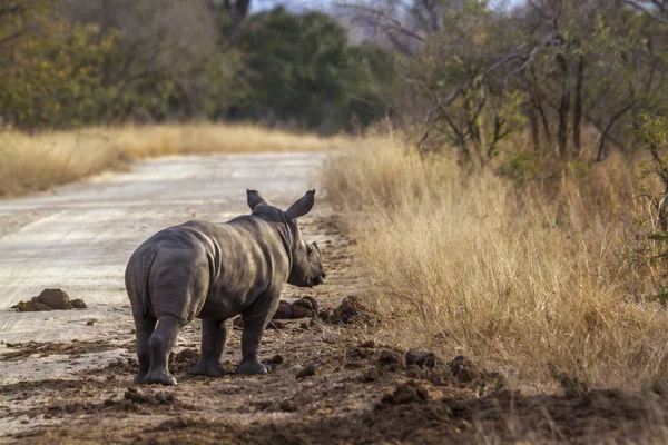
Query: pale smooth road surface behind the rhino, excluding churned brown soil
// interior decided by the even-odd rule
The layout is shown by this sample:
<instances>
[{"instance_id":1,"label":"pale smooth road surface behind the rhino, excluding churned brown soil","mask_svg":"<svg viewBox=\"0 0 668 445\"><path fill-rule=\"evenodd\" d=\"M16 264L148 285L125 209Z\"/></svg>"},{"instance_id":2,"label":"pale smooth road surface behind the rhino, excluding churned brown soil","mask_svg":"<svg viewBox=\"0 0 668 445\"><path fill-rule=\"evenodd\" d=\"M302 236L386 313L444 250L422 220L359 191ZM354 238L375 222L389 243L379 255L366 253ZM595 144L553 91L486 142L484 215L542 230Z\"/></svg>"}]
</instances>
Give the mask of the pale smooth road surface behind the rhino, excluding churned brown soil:
<instances>
[{"instance_id":1,"label":"pale smooth road surface behind the rhino, excluding churned brown soil","mask_svg":"<svg viewBox=\"0 0 668 445\"><path fill-rule=\"evenodd\" d=\"M310 176L321 161L316 154L169 157L0 201L0 339L78 338L77 320L127 303L125 265L153 233L195 217L224 221L247 212L246 187L289 204L314 185ZM43 314L6 310L47 287L84 298L90 310L53 313L41 329Z\"/></svg>"}]
</instances>

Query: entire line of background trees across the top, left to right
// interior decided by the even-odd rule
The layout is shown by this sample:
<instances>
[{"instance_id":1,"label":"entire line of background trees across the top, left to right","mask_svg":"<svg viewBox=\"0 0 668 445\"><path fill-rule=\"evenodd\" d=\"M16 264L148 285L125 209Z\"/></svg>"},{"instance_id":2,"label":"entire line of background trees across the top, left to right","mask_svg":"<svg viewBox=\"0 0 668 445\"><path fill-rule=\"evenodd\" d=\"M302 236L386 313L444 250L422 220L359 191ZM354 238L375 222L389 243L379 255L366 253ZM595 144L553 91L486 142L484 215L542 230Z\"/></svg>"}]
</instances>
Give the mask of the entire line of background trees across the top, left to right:
<instances>
[{"instance_id":1,"label":"entire line of background trees across the top, left to right","mask_svg":"<svg viewBox=\"0 0 668 445\"><path fill-rule=\"evenodd\" d=\"M527 178L629 152L667 111L665 0L285 3L0 0L1 125L390 121L472 168L522 140L502 171Z\"/></svg>"}]
</instances>

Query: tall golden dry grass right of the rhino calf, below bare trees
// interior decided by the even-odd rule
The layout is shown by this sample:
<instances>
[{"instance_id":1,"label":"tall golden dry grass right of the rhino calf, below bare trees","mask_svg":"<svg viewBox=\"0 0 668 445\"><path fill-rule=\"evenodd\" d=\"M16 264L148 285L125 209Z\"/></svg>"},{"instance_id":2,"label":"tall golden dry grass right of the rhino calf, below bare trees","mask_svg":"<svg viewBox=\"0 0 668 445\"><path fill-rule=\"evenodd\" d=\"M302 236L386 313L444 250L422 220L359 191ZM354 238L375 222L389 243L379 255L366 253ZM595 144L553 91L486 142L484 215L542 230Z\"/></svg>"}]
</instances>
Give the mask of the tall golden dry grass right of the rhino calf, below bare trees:
<instances>
[{"instance_id":1,"label":"tall golden dry grass right of the rhino calf, below bare trees","mask_svg":"<svg viewBox=\"0 0 668 445\"><path fill-rule=\"evenodd\" d=\"M381 335L523 385L550 385L549 365L600 386L666 374L668 316L651 298L662 270L636 236L646 208L626 160L518 188L376 138L323 175L357 240L367 301L391 320Z\"/></svg>"}]
</instances>

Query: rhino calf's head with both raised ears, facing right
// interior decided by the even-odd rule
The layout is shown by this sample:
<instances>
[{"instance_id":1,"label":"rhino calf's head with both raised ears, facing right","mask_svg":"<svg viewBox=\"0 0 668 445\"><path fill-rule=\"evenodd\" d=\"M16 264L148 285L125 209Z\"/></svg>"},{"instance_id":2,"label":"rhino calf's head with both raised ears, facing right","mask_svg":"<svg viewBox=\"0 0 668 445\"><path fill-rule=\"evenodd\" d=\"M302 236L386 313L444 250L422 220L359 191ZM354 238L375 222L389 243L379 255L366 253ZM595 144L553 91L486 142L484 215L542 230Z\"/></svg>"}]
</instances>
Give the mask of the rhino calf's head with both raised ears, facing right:
<instances>
[{"instance_id":1,"label":"rhino calf's head with both raised ears, facing right","mask_svg":"<svg viewBox=\"0 0 668 445\"><path fill-rule=\"evenodd\" d=\"M297 218L306 215L313 208L315 190L306 191L306 195L297 199L285 211L265 201L256 190L246 190L246 194L253 215L271 222L278 222L285 228L285 230L279 230L279 234L289 249L292 258L292 269L287 283L299 287L322 285L325 279L325 270L320 247L316 243L310 243L302 238L302 231L297 224Z\"/></svg>"}]
</instances>

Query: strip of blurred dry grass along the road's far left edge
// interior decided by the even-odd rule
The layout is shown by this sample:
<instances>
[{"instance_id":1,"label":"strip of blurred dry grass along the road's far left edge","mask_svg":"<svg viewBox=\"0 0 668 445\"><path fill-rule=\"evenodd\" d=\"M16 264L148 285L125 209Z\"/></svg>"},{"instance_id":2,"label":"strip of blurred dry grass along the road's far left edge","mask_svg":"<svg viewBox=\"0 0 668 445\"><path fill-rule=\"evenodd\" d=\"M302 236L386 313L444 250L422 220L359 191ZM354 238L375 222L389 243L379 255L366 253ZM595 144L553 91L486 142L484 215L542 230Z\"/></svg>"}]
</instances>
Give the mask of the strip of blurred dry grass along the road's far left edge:
<instances>
[{"instance_id":1,"label":"strip of blurred dry grass along the road's far left edge","mask_svg":"<svg viewBox=\"0 0 668 445\"><path fill-rule=\"evenodd\" d=\"M27 135L0 132L0 197L70 182L130 159L204 154L326 150L343 138L320 138L238 125L89 128Z\"/></svg>"}]
</instances>

